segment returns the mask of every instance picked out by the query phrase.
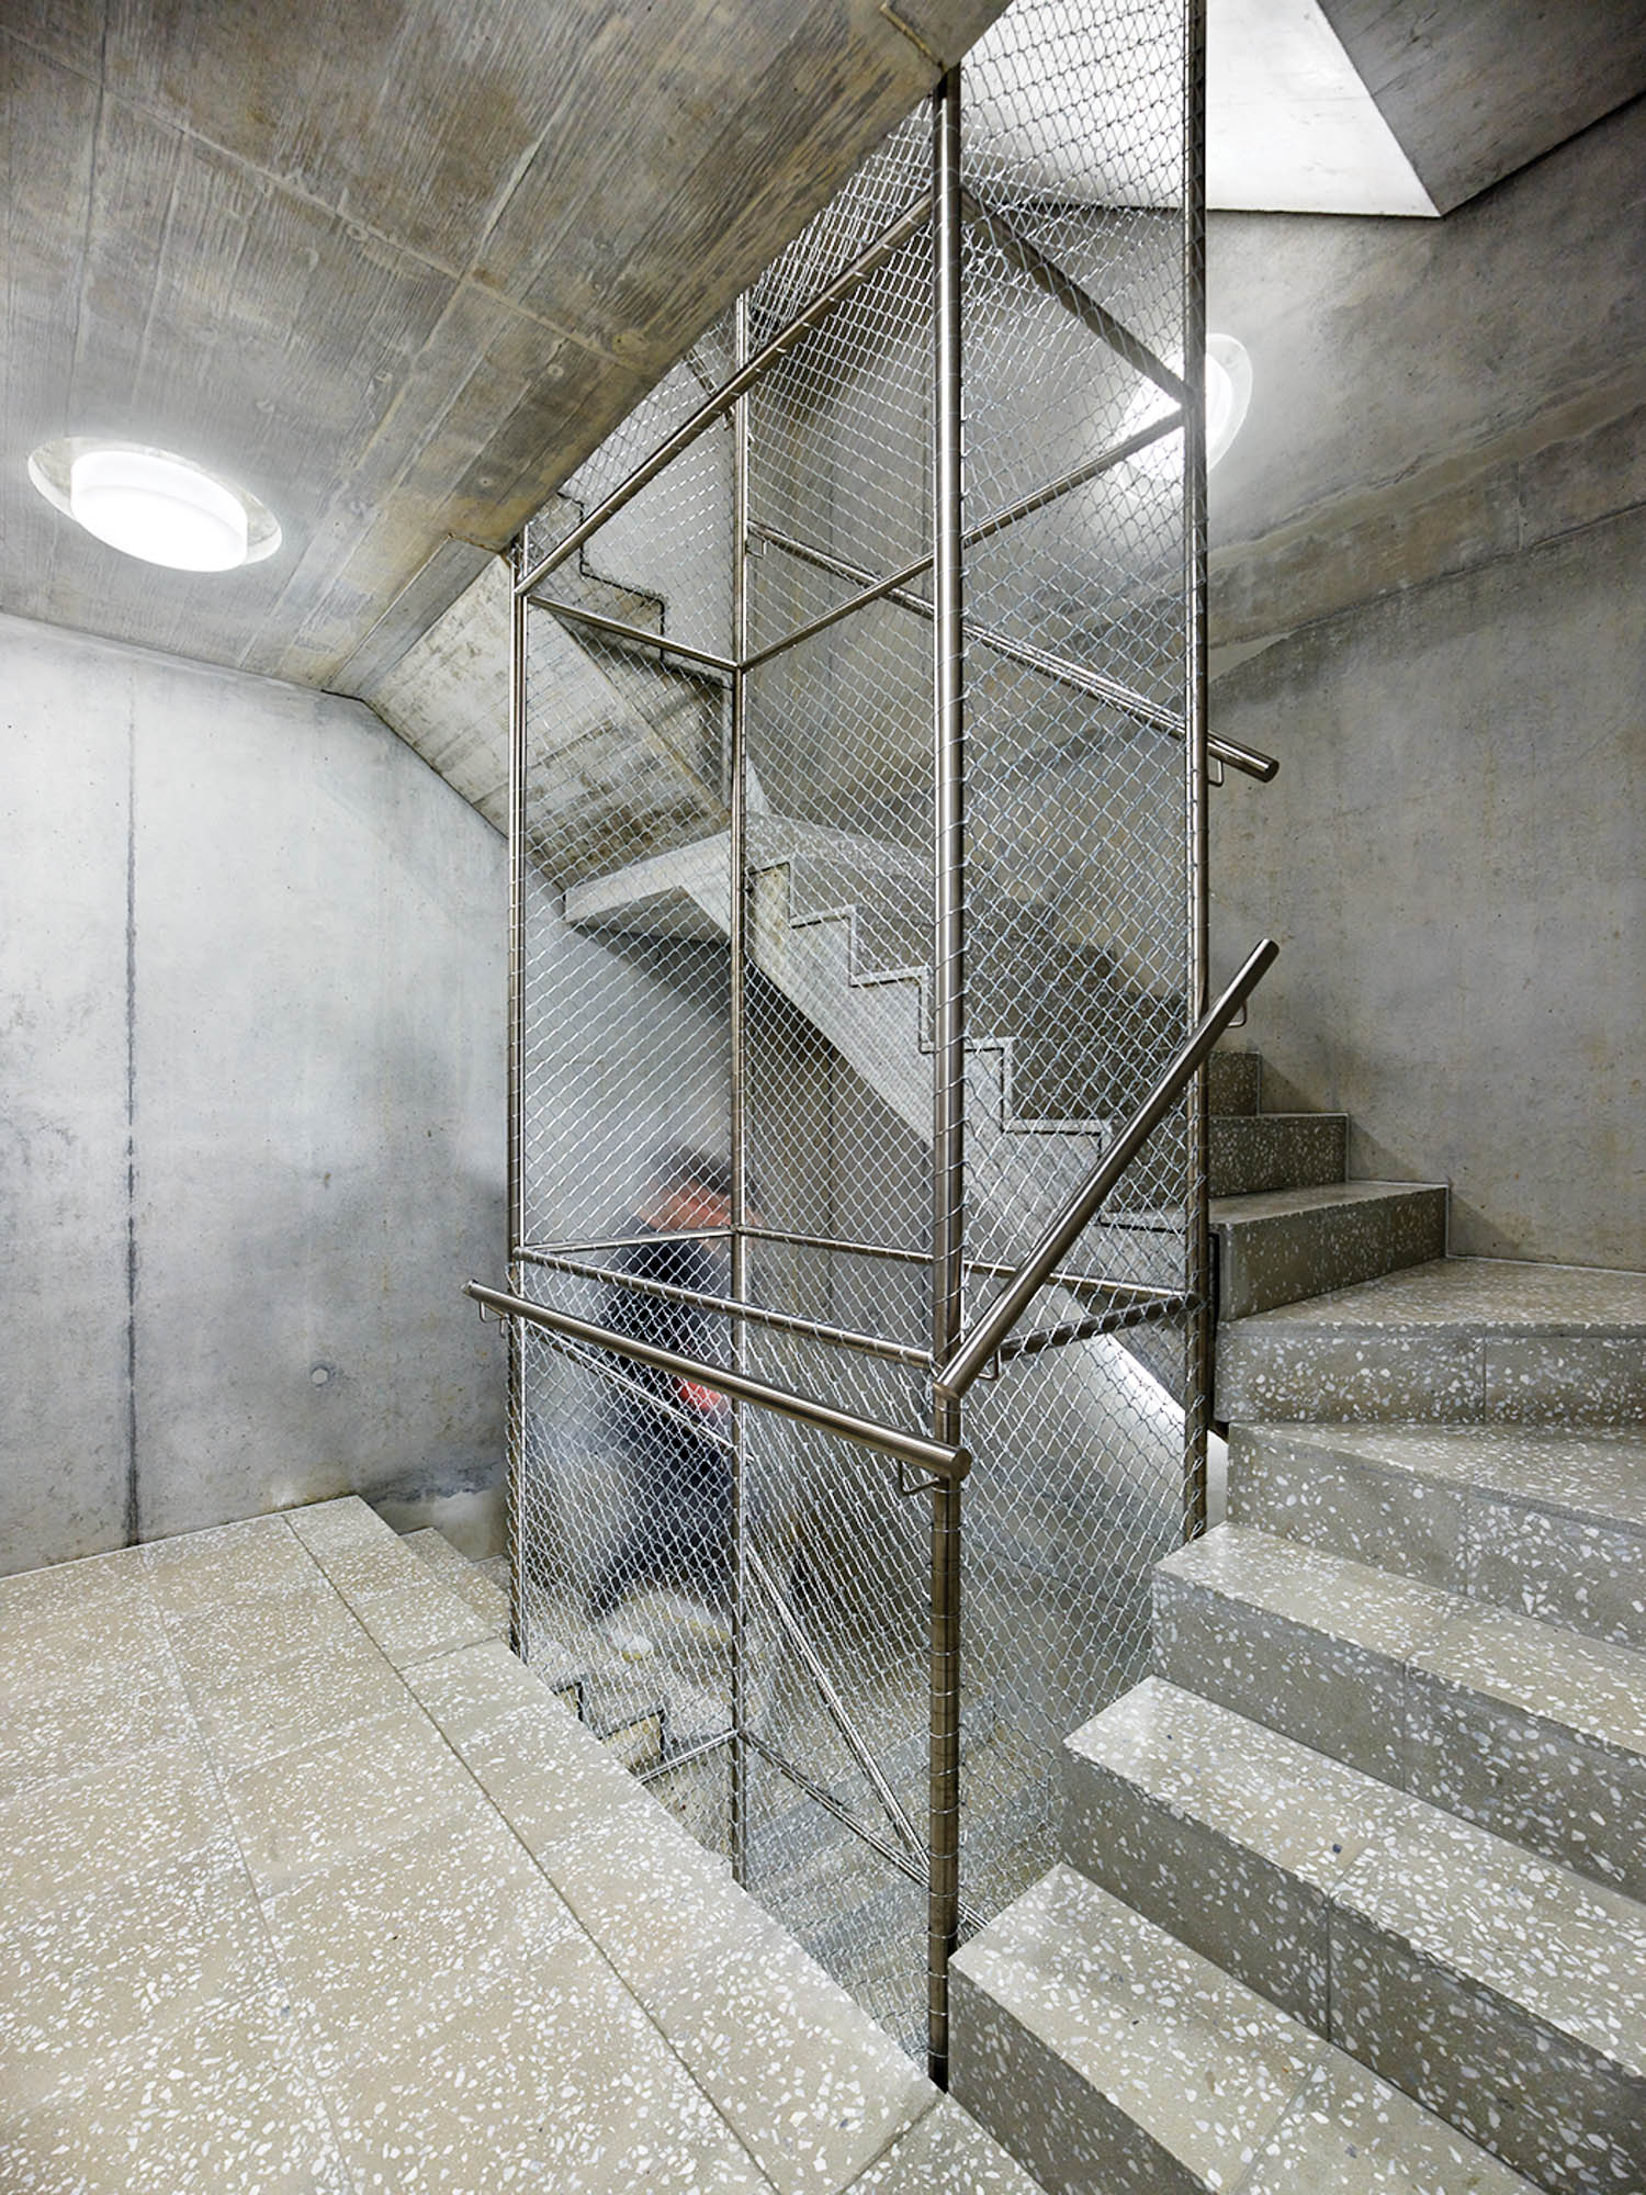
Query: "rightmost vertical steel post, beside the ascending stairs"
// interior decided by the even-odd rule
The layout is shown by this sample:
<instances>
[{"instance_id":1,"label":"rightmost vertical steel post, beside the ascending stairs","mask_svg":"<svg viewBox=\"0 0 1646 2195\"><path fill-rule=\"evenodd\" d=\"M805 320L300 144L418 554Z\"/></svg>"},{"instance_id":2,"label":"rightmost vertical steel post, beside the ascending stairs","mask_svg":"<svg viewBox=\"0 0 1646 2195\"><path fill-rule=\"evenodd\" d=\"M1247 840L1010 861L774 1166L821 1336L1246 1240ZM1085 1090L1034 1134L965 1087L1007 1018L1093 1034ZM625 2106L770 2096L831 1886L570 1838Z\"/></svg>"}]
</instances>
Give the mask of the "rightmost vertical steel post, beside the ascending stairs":
<instances>
[{"instance_id":1,"label":"rightmost vertical steel post, beside the ascending stairs","mask_svg":"<svg viewBox=\"0 0 1646 2195\"><path fill-rule=\"evenodd\" d=\"M1205 489L1205 0L1187 0L1183 50L1183 764L1187 819L1187 1021L1205 1014L1207 909L1207 489ZM1183 1532L1207 1528L1207 1420L1211 1407L1211 1227L1207 1214L1207 1073L1187 1095L1190 1231L1183 1288L1190 1297L1183 1389Z\"/></svg>"}]
</instances>

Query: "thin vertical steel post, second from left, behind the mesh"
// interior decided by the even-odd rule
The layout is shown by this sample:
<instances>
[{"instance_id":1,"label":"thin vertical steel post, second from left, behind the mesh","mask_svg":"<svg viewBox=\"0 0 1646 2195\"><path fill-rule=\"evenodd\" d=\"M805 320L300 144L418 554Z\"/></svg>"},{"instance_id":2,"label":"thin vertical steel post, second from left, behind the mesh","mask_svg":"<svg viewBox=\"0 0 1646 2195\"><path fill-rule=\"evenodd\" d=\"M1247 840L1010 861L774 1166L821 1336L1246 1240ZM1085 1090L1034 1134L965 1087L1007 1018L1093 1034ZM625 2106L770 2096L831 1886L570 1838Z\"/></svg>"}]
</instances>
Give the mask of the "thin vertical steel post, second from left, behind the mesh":
<instances>
[{"instance_id":1,"label":"thin vertical steel post, second from left, behind the mesh","mask_svg":"<svg viewBox=\"0 0 1646 2195\"><path fill-rule=\"evenodd\" d=\"M735 367L748 358L748 299L740 296L733 331ZM726 834L731 887L731 1299L748 1299L748 397L737 397L731 415L731 757ZM744 1321L733 1319L731 1363L744 1370ZM748 1877L748 1409L731 1405L733 1425L733 1613L731 1613L731 1872Z\"/></svg>"}]
</instances>

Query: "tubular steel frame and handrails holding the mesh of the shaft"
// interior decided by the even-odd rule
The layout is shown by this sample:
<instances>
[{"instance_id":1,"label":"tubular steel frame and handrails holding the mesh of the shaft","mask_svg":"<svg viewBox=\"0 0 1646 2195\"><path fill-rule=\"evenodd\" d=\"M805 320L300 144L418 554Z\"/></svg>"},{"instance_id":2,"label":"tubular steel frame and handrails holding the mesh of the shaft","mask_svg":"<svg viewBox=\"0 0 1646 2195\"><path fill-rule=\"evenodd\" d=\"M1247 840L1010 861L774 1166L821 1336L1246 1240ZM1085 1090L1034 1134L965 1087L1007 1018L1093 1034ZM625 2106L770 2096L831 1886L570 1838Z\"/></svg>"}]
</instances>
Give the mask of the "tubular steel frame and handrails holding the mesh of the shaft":
<instances>
[{"instance_id":1,"label":"tubular steel frame and handrails holding the mesh of the shaft","mask_svg":"<svg viewBox=\"0 0 1646 2195\"><path fill-rule=\"evenodd\" d=\"M933 94L931 110L931 189L922 191L902 213L865 246L852 263L836 274L816 296L812 296L783 327L764 340L759 349L751 340L751 303L740 301L735 314L733 373L713 389L700 360L691 362L698 386L704 389L702 404L674 428L656 448L610 489L595 509L586 511L577 525L549 551L529 560L525 538L511 558L511 654L509 654L509 1288L487 1288L467 1284L467 1295L485 1310L498 1315L509 1332L509 1504L511 1504L511 1637L525 1655L529 1637L522 1611L525 1550L520 1543L520 1506L525 1473L525 1418L520 1407L522 1348L525 1332L546 1335L553 1348L573 1352L582 1363L610 1367L612 1359L667 1372L676 1378L691 1378L722 1389L731 1398L729 1449L733 1455L733 1536L735 1536L735 1609L733 1609L733 1701L731 1727L698 1747L658 1763L656 1771L685 1765L731 1749L731 1857L733 1870L746 1877L748 1850L748 1798L746 1763L748 1754L766 1758L790 1782L803 1789L819 1806L852 1828L882 1859L926 1890L926 2035L928 2065L933 2079L946 2083L948 2076L948 1962L957 1943L966 1907L959 1886L959 1563L961 1563L961 1482L970 1466L963 1444L963 1396L970 1385L990 1374L999 1374L1005 1363L1031 1357L1049 1348L1089 1341L1100 1335L1121 1332L1157 1319L1185 1319L1185 1374L1190 1407L1185 1409L1185 1521L1187 1530L1205 1526L1205 1383L1209 1378L1209 1238L1205 1218L1205 1058L1218 1034L1242 1008L1251 988L1275 957L1275 946L1264 939L1247 959L1244 968L1207 1012L1207 784L1214 762L1229 764L1251 777L1271 779L1277 764L1238 742L1209 738L1205 709L1205 472L1203 472L1203 222L1198 217L1198 191L1203 187L1205 143L1203 143L1203 75L1205 75L1205 0L1187 0L1187 68L1185 68L1185 222L1183 222L1183 336L1185 373L1174 373L1139 336L1132 334L1113 312L1097 303L1078 281L1073 281L1031 237L1023 233L1005 213L985 206L961 182L961 77L950 70ZM1091 334L1106 342L1135 371L1146 375L1170 402L1170 410L1148 421L1143 428L1124 435L1095 459L1047 481L1027 496L983 520L966 525L963 518L963 375L961 375L961 281L963 281L963 233L977 230L988 244L1005 255L1007 263L1062 309L1071 312ZM931 246L931 299L933 299L933 360L931 360L931 415L933 415L933 553L924 555L891 575L876 575L849 560L832 555L808 542L794 540L775 527L759 525L751 514L751 397L764 378L783 358L821 329L863 283L884 268L900 250L922 233ZM542 584L590 542L619 511L623 511L652 481L656 481L700 435L724 424L733 439L733 608L731 608L731 652L718 654L663 632L650 632L621 619L584 610L575 604L557 601L542 593ZM1185 630L1185 698L1183 711L1137 694L1121 680L1071 661L1047 648L1018 641L1007 632L985 626L968 626L963 617L963 560L968 549L992 540L1014 525L1047 509L1062 496L1097 481L1104 472L1126 463L1163 437L1183 430L1183 498L1185 498L1185 562L1183 588L1187 597ZM770 544L781 553L808 562L856 588L836 608L810 619L797 630L751 648L751 586L748 555L753 544ZM931 573L931 599L913 590ZM823 1236L783 1234L766 1229L748 1212L748 1166L746 1166L746 1025L744 990L751 966L746 867L748 867L748 676L764 663L799 648L816 634L843 623L871 604L889 601L900 610L917 615L931 623L933 663L933 1170L931 1170L931 1245L924 1251L895 1249L891 1245L867 1245L832 1240ZM702 1291L674 1288L661 1282L645 1282L615 1267L590 1264L579 1253L601 1253L621 1249L623 1240L579 1242L579 1245L529 1245L525 1225L525 1144L522 1144L522 1076L525 1076L525 887L527 887L527 691L525 691L525 621L531 608L540 608L573 626L584 626L604 639L676 658L700 674L711 674L729 687L729 740L726 740L726 806L729 806L729 865L731 865L731 1225L726 1229L704 1229L731 1245L731 1293L711 1297ZM1185 994L1190 1003L1192 1034L1174 1054L1172 1062L1154 1082L1148 1100L1113 1139L1104 1159L1093 1168L1082 1187L1064 1203L1058 1218L1045 1229L1040 1242L1021 1267L1005 1267L992 1260L970 1258L966 1251L963 1192L966 1192L966 645L974 641L1005 661L1034 669L1036 674L1073 687L1084 696L1126 713L1143 729L1176 738L1185 746L1185 819L1187 819L1187 948L1185 948ZM1187 1124L1187 1177L1192 1183L1192 1214L1185 1242L1183 1284L1174 1288L1121 1282L1097 1273L1067 1269L1067 1258L1086 1225L1102 1212L1126 1168L1137 1159L1148 1137L1176 1108L1183 1106ZM748 1249L751 1242L773 1240L799 1247L830 1249L838 1253L889 1258L928 1269L931 1293L931 1341L928 1348L887 1341L884 1337L854 1332L852 1328L801 1319L786 1313L770 1313L751 1302ZM577 1319L566 1310L531 1302L525 1295L527 1267L562 1271L568 1277L597 1280L610 1286L628 1286L639 1293L694 1302L700 1308L720 1308L726 1315L731 1348L726 1365L711 1365L700 1359L680 1357L650 1343L634 1341L588 1319ZM968 1282L999 1277L1005 1284L983 1313L966 1324L963 1293ZM1042 1288L1056 1286L1073 1293L1082 1304L1078 1317L1060 1319L1051 1326L1031 1328L1029 1308ZM1089 1297L1097 1297L1093 1308L1084 1308ZM775 1387L753 1378L746 1370L746 1328L766 1326L821 1341L832 1348L856 1348L869 1354L902 1363L931 1378L931 1433L915 1436L902 1427L882 1425L845 1411L834 1403ZM590 1357L590 1352L595 1352ZM636 1394L645 1394L634 1385ZM1196 1400L1198 1398L1198 1400ZM667 1409L667 1405L661 1405ZM783 1600L775 1580L759 1563L748 1543L748 1414L775 1411L792 1422L812 1427L832 1438L843 1438L873 1453L891 1457L898 1466L898 1490L931 1499L931 1565L928 1565L928 1809L924 1842L906 1811L898 1804L871 1749L852 1725L849 1710L823 1670L821 1659L808 1648L794 1651L812 1679L819 1684L830 1719L843 1736L852 1758L863 1769L887 1815L891 1837L882 1837L858 1820L834 1793L825 1791L812 1776L788 1760L751 1727L746 1662L748 1662L748 1605L751 1587L764 1600L773 1600L773 1613L783 1635L794 1644L783 1624ZM786 1611L792 1622L797 1618Z\"/></svg>"}]
</instances>

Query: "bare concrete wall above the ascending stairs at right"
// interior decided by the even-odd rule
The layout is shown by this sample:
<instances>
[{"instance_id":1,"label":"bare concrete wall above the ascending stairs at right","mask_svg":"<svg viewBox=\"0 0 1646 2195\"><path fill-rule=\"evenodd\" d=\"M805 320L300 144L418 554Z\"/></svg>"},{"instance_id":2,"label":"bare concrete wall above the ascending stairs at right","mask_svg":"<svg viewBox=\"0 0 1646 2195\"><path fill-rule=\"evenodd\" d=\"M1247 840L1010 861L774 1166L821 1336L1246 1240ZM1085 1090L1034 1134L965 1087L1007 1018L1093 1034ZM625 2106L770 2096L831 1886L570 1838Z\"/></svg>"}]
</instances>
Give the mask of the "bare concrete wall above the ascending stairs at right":
<instances>
[{"instance_id":1,"label":"bare concrete wall above the ascending stairs at right","mask_svg":"<svg viewBox=\"0 0 1646 2195\"><path fill-rule=\"evenodd\" d=\"M1453 1249L1646 1264L1646 105L1444 222L1220 215L1216 957L1249 1040L1451 1181Z\"/></svg>"}]
</instances>

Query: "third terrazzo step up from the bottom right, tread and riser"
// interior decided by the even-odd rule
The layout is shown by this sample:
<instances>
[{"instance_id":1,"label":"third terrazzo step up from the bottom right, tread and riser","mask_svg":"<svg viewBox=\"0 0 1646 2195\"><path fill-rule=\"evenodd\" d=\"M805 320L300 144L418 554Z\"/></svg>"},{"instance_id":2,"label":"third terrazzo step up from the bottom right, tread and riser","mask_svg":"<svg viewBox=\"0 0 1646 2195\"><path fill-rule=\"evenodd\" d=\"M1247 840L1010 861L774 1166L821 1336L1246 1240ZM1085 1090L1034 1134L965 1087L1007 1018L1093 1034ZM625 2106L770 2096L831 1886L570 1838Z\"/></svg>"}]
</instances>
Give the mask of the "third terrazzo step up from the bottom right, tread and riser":
<instances>
[{"instance_id":1,"label":"third terrazzo step up from the bottom right, tread and riser","mask_svg":"<svg viewBox=\"0 0 1646 2195\"><path fill-rule=\"evenodd\" d=\"M1154 1668L1646 1896L1646 1655L1218 1526L1154 1569Z\"/></svg>"}]
</instances>

